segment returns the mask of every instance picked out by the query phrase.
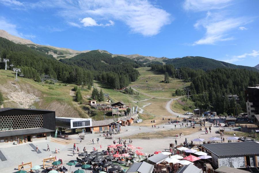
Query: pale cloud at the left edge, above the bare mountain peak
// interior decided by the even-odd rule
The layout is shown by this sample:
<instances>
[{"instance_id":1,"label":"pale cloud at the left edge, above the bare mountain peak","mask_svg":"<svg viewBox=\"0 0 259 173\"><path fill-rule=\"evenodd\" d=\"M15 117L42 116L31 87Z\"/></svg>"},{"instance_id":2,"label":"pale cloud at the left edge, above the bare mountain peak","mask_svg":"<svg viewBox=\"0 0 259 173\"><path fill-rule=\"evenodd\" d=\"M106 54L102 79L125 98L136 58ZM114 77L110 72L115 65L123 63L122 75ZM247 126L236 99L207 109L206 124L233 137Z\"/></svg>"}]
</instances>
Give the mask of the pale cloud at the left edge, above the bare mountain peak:
<instances>
[{"instance_id":1,"label":"pale cloud at the left edge, above the bare mountain peak","mask_svg":"<svg viewBox=\"0 0 259 173\"><path fill-rule=\"evenodd\" d=\"M23 34L19 33L16 29L16 25L9 23L5 18L0 17L0 29L7 31L11 35L15 35L17 37L32 39L35 38L35 35L32 34Z\"/></svg>"}]
</instances>

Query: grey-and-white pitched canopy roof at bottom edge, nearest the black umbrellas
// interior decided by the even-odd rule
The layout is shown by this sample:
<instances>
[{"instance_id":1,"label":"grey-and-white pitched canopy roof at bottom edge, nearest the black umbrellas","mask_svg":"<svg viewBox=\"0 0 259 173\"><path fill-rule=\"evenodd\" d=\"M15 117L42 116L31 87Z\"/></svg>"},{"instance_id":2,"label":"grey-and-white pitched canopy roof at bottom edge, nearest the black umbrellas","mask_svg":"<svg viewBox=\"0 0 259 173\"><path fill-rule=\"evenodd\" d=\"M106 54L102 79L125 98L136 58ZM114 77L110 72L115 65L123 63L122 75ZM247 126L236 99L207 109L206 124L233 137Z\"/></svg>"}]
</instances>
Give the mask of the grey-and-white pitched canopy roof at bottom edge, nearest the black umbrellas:
<instances>
[{"instance_id":1,"label":"grey-and-white pitched canopy roof at bottom edge, nearest the black umbrellas","mask_svg":"<svg viewBox=\"0 0 259 173\"><path fill-rule=\"evenodd\" d=\"M127 170L127 172L141 172L141 173L151 173L153 172L154 165L146 162L133 163L133 165Z\"/></svg>"}]
</instances>

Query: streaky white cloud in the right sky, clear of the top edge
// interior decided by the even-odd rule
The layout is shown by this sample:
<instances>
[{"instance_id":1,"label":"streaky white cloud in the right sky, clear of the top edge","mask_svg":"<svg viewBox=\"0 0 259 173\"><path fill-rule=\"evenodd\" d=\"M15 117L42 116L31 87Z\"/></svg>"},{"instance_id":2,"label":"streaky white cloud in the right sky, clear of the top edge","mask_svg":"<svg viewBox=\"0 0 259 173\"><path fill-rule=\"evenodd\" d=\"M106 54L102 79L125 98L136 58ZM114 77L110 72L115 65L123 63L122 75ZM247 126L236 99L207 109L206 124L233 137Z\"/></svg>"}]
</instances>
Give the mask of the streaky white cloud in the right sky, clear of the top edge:
<instances>
[{"instance_id":1,"label":"streaky white cloud in the right sky, clear of the top edge","mask_svg":"<svg viewBox=\"0 0 259 173\"><path fill-rule=\"evenodd\" d=\"M228 32L247 22L249 22L247 18L227 18L224 14L208 12L206 18L198 20L194 25L196 29L203 27L206 33L193 45L215 44L219 41L233 40L234 37L229 37Z\"/></svg>"}]
</instances>

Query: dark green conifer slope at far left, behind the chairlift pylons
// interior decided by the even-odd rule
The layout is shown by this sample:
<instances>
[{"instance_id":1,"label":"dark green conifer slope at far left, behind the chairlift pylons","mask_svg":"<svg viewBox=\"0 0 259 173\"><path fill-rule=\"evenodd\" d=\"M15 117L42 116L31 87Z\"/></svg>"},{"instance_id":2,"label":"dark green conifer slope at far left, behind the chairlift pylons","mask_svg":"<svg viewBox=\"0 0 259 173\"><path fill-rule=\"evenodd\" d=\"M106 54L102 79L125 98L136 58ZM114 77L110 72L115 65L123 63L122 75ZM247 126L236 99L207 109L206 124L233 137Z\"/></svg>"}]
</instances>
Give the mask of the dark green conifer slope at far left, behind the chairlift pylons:
<instances>
[{"instance_id":1,"label":"dark green conifer slope at far left, behind the chairlift pylons","mask_svg":"<svg viewBox=\"0 0 259 173\"><path fill-rule=\"evenodd\" d=\"M89 70L75 65L66 65L54 59L52 55L47 55L28 46L16 44L0 37L0 52L1 58L9 59L9 64L13 64L15 68L21 68L26 78L40 81L41 74L49 74L52 78L62 82L77 84L84 82L92 86L94 77ZM4 63L0 64L0 68L4 68Z\"/></svg>"}]
</instances>

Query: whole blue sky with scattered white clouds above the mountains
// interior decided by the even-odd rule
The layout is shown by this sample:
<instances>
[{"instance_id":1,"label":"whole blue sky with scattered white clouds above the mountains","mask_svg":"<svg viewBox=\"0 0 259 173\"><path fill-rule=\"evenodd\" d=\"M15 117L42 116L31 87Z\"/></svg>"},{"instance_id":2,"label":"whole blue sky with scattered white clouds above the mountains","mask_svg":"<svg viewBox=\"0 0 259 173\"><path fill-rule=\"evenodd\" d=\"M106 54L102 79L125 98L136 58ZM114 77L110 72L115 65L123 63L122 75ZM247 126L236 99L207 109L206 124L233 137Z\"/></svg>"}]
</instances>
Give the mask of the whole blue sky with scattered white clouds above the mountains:
<instances>
[{"instance_id":1,"label":"whole blue sky with scattered white clouds above the mountains","mask_svg":"<svg viewBox=\"0 0 259 173\"><path fill-rule=\"evenodd\" d=\"M113 54L259 63L258 0L0 0L0 29Z\"/></svg>"}]
</instances>

